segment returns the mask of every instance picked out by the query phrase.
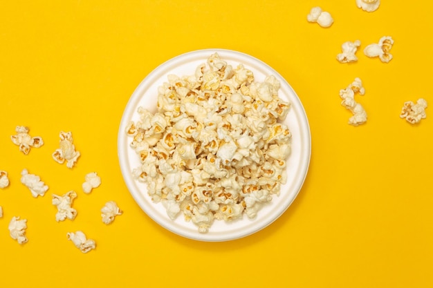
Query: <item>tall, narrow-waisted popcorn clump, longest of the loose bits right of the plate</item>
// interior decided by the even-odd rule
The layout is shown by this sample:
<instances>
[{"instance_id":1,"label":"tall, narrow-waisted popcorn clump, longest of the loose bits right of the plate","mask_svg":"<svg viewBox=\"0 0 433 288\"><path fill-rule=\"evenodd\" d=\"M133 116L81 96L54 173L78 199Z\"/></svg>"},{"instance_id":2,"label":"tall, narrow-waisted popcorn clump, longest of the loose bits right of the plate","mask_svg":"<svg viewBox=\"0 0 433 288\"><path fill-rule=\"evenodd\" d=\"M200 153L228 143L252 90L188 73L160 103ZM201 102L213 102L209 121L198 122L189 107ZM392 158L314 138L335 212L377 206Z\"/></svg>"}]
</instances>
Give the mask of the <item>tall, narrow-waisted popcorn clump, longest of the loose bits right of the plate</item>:
<instances>
[{"instance_id":1,"label":"tall, narrow-waisted popcorn clump, longest of the loose bits right of the plate","mask_svg":"<svg viewBox=\"0 0 433 288\"><path fill-rule=\"evenodd\" d=\"M355 93L359 93L360 95L365 94L365 88L362 87L362 81L359 78L355 78L355 81L347 86L347 88L340 90L340 97L343 99L341 102L342 106L353 113L353 116L349 118L349 124L358 126L367 121L367 113L362 105L355 101Z\"/></svg>"}]
</instances>

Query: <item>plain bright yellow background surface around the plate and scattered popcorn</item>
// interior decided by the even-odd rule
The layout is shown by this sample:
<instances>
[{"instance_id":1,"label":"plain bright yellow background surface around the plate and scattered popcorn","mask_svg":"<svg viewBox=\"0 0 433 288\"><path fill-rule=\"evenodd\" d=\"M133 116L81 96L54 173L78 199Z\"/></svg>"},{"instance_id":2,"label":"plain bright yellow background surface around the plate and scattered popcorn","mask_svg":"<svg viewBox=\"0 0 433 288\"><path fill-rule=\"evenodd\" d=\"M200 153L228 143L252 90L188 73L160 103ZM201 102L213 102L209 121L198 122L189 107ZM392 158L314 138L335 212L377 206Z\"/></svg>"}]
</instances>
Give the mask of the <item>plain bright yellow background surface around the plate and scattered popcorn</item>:
<instances>
[{"instance_id":1,"label":"plain bright yellow background surface around the plate and scattered popcorn","mask_svg":"<svg viewBox=\"0 0 433 288\"><path fill-rule=\"evenodd\" d=\"M308 23L321 6L331 28ZM338 1L2 1L0 5L0 287L432 287L433 109L412 126L405 101L432 97L432 1L383 0L364 12ZM362 50L389 35L389 64ZM358 62L340 64L344 41ZM203 48L238 50L275 68L308 115L311 164L295 202L266 229L229 242L197 242L161 228L133 201L117 158L120 118L140 81L163 61ZM365 125L347 124L339 90L360 77ZM29 155L10 136L30 128ZM51 158L59 131L82 154L73 169ZM33 198L22 169L50 187ZM82 192L84 175L102 185ZM74 221L55 222L51 194L75 190ZM109 226L100 209L123 215ZM9 236L28 219L28 243ZM82 230L87 254L66 240Z\"/></svg>"}]
</instances>

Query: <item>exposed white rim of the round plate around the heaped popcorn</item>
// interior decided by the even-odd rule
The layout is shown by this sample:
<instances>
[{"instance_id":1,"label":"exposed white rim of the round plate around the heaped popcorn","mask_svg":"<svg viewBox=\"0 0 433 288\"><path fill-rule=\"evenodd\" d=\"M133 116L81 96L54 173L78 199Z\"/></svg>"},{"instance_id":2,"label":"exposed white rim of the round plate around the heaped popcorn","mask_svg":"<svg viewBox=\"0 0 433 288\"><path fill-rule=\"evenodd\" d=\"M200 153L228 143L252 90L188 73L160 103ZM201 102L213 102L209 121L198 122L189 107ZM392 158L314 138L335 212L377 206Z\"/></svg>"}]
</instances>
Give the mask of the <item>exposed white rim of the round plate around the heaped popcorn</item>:
<instances>
[{"instance_id":1,"label":"exposed white rim of the round plate around the heaped popcorn","mask_svg":"<svg viewBox=\"0 0 433 288\"><path fill-rule=\"evenodd\" d=\"M157 111L158 87L168 81L167 75L177 75L179 77L194 75L196 68L201 64L205 64L210 55L214 53L218 53L219 57L226 61L227 64L232 65L233 68L243 64L245 68L252 71L255 81L264 81L268 75L274 75L277 78L281 84L278 91L279 97L291 104L291 108L283 122L288 126L292 134L291 155L286 160L286 184L282 184L279 195L273 195L273 200L261 207L254 219L243 215L243 218L232 222L214 220L207 233L200 233L195 224L191 221L185 221L182 212L179 213L175 220L171 220L162 203L152 202L147 193L146 184L134 179L132 171L140 166L140 160L136 151L129 146L131 137L127 136L125 130L129 122L136 122L139 119L138 107L147 108L151 113ZM310 163L310 155L311 135L308 119L304 107L293 88L277 71L264 62L233 50L196 50L169 59L158 66L142 80L131 95L122 115L118 132L118 157L122 176L133 199L141 209L160 226L179 236L208 242L234 240L249 236L264 229L279 218L290 207L302 188Z\"/></svg>"}]
</instances>

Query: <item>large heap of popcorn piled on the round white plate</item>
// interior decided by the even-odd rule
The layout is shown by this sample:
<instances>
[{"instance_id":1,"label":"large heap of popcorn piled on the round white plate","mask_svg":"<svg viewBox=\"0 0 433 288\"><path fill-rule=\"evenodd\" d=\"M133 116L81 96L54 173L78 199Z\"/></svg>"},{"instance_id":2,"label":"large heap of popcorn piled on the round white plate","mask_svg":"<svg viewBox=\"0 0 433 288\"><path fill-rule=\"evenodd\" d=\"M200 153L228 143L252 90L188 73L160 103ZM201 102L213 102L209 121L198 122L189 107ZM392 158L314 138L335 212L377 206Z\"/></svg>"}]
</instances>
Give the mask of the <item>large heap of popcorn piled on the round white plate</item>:
<instances>
[{"instance_id":1,"label":"large heap of popcorn piled on the round white plate","mask_svg":"<svg viewBox=\"0 0 433 288\"><path fill-rule=\"evenodd\" d=\"M279 81L255 81L217 53L194 75L167 79L158 111L138 108L125 128L140 160L133 177L170 219L183 214L200 233L214 220L255 218L287 179L292 135L280 121L291 104L278 97Z\"/></svg>"}]
</instances>

